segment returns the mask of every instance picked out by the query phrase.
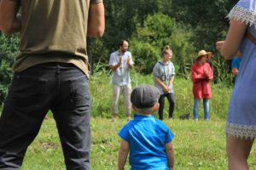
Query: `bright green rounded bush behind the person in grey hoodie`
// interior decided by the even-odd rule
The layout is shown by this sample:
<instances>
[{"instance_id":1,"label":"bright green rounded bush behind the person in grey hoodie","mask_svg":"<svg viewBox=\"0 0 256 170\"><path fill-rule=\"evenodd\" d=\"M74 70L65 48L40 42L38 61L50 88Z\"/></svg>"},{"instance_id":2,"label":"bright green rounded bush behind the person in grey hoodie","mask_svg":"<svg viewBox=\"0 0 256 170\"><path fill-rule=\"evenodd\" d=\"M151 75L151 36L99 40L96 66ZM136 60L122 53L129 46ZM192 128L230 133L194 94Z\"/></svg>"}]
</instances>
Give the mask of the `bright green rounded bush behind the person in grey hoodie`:
<instances>
[{"instance_id":1,"label":"bright green rounded bush behind the person in grey hoodie","mask_svg":"<svg viewBox=\"0 0 256 170\"><path fill-rule=\"evenodd\" d=\"M173 51L172 60L178 65L177 73L184 75L188 68L190 70L187 63L191 64L190 55L194 51L189 43L189 36L189 29L185 30L182 26L178 26L168 15L148 15L143 26L137 26L137 32L131 41L136 46L136 50L132 52L136 65L139 65L138 70L144 74L151 73L157 59L160 59L162 48L170 45ZM148 53L145 52L145 48Z\"/></svg>"}]
</instances>

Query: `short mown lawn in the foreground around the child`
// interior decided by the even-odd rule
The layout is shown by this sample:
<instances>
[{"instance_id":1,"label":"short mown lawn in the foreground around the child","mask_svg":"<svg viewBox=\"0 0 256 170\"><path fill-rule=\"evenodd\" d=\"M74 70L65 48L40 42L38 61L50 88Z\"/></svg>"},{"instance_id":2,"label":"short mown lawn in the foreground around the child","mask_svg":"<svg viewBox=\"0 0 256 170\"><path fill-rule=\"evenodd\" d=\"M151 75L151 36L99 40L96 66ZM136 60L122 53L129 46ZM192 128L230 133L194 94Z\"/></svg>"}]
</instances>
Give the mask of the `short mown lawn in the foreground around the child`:
<instances>
[{"instance_id":1,"label":"short mown lawn in the foreground around the child","mask_svg":"<svg viewBox=\"0 0 256 170\"><path fill-rule=\"evenodd\" d=\"M125 125L125 119L111 123L110 119L92 118L91 169L112 170L117 168L119 150L118 132ZM175 133L175 169L177 170L224 170L227 169L225 133L223 120L209 122L165 121ZM256 169L256 146L249 157L250 169ZM128 161L126 168L128 169ZM32 145L26 152L23 170L65 169L61 144L51 116L45 120Z\"/></svg>"}]
</instances>

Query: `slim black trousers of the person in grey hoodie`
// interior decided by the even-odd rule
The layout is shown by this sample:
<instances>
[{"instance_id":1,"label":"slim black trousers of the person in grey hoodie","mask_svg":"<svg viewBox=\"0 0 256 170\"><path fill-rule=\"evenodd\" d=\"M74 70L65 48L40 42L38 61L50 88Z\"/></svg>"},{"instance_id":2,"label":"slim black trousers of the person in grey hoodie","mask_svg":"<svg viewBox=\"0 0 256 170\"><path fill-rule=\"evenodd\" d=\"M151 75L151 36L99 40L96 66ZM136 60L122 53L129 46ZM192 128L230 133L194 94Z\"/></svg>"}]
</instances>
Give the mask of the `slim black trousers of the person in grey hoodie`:
<instances>
[{"instance_id":1,"label":"slim black trousers of the person in grey hoodie","mask_svg":"<svg viewBox=\"0 0 256 170\"><path fill-rule=\"evenodd\" d=\"M169 94L161 94L160 95L160 99L158 100L160 107L159 107L159 119L163 120L164 119L164 107L165 107L165 97L168 99L169 102L169 118L172 118L173 116L173 111L174 111L174 98L173 98L173 93L169 93Z\"/></svg>"}]
</instances>

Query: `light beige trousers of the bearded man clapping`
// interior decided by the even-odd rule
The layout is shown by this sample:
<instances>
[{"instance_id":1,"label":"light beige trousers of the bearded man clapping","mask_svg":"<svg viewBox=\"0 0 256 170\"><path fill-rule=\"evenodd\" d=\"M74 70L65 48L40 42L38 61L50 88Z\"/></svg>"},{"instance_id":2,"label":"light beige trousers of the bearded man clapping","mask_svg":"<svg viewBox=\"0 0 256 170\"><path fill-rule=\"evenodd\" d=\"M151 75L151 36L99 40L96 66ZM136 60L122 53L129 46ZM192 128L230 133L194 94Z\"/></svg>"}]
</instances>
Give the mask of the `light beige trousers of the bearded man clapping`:
<instances>
[{"instance_id":1,"label":"light beige trousers of the bearded man clapping","mask_svg":"<svg viewBox=\"0 0 256 170\"><path fill-rule=\"evenodd\" d=\"M120 94L123 94L125 114L126 116L131 116L131 83L125 86L117 86L113 84L112 115L118 115Z\"/></svg>"}]
</instances>

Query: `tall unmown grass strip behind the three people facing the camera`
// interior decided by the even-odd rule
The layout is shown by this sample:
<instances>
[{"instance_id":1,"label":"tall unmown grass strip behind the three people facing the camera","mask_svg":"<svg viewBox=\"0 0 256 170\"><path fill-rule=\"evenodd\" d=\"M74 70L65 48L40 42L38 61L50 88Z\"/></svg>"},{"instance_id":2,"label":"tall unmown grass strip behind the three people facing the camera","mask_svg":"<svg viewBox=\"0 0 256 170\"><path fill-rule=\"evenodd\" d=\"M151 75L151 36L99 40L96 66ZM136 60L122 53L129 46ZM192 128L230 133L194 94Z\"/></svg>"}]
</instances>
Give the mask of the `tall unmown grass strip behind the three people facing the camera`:
<instances>
[{"instance_id":1,"label":"tall unmown grass strip behind the three people facing the camera","mask_svg":"<svg viewBox=\"0 0 256 170\"><path fill-rule=\"evenodd\" d=\"M154 84L153 77L142 76L136 72L131 74L131 85L132 88L137 87L139 84ZM194 105L194 97L192 94L192 82L191 80L185 80L176 77L174 80L174 98L176 100L174 118L178 116L189 113L192 116L192 110ZM233 87L226 86L222 83L213 84L212 87L212 99L210 99L210 116L214 119L223 119L226 117L230 95ZM110 107L112 102L112 84L111 77L105 75L91 77L90 80L90 94L92 96L92 116L99 116L109 118L111 116ZM119 100L119 115L125 116L123 109L122 96ZM164 110L164 115L167 117L168 104L166 100L166 107ZM203 116L203 107L201 102L201 107L199 109L200 118Z\"/></svg>"}]
</instances>

